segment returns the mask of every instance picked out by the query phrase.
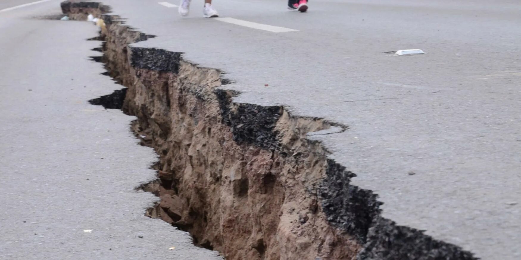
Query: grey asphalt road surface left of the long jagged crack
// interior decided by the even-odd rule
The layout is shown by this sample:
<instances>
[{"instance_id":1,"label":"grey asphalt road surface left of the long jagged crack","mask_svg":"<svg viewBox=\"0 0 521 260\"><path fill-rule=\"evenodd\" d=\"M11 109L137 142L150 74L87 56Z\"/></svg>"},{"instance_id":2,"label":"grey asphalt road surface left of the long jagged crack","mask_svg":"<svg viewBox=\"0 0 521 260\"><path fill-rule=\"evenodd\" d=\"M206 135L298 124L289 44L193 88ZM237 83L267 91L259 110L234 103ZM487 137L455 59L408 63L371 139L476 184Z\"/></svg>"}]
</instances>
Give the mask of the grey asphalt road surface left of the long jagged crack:
<instances>
[{"instance_id":1,"label":"grey asphalt road surface left of the long jagged crack","mask_svg":"<svg viewBox=\"0 0 521 260\"><path fill-rule=\"evenodd\" d=\"M0 12L0 259L220 259L144 216L156 155L88 103L119 88L89 60L97 28L30 18L58 4Z\"/></svg>"}]
</instances>

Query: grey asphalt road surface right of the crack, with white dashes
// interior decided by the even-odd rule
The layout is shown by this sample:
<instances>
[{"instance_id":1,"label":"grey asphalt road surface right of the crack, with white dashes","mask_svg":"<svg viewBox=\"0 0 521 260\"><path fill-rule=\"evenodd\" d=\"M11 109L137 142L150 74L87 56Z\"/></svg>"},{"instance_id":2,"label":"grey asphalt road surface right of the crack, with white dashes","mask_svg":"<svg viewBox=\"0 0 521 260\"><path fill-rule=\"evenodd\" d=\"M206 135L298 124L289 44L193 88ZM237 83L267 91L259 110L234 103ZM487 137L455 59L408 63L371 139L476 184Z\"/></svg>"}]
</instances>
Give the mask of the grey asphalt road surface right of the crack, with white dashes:
<instances>
[{"instance_id":1,"label":"grey asphalt road surface right of the crack, with white dashes","mask_svg":"<svg viewBox=\"0 0 521 260\"><path fill-rule=\"evenodd\" d=\"M379 194L384 217L483 259L521 258L518 1L313 0L307 14L214 2L242 25L203 19L202 2L181 18L156 1L104 1L158 36L135 46L227 72L236 101L349 125L321 138L355 185ZM426 54L386 53L410 48Z\"/></svg>"}]
</instances>

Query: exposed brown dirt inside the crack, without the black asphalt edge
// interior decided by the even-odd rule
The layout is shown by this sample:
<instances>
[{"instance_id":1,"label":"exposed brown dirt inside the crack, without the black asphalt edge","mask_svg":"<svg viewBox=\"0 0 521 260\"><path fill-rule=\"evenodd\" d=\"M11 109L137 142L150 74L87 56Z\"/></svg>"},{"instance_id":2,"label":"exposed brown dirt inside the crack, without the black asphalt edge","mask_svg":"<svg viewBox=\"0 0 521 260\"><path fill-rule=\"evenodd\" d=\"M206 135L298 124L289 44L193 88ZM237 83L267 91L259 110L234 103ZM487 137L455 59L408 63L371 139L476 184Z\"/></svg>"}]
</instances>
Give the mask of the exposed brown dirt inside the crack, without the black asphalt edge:
<instances>
[{"instance_id":1,"label":"exposed brown dirt inside the crack, without the black asphalt edge","mask_svg":"<svg viewBox=\"0 0 521 260\"><path fill-rule=\"evenodd\" d=\"M128 44L146 35L118 22L103 34L106 67L128 87L123 110L138 117L133 131L160 158L158 180L143 187L161 199L148 216L189 231L227 259L354 259L358 243L328 225L317 199L327 152L305 139L328 124L280 108L277 149L241 143L223 122L218 70L183 60L176 72L133 67Z\"/></svg>"}]
</instances>

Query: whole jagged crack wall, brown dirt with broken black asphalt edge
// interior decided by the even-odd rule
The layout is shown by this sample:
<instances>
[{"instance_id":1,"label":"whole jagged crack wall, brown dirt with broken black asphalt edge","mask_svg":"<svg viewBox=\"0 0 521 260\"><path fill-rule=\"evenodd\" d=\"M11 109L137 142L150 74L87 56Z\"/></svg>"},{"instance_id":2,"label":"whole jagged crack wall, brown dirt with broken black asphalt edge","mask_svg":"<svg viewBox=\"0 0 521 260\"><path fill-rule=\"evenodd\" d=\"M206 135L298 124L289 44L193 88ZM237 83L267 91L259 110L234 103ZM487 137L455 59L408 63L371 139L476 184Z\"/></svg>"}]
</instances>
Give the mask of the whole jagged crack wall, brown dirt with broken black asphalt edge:
<instances>
[{"instance_id":1,"label":"whole jagged crack wall, brown dirt with broken black asphalt edge","mask_svg":"<svg viewBox=\"0 0 521 260\"><path fill-rule=\"evenodd\" d=\"M148 216L227 259L475 259L380 217L376 194L350 185L356 175L306 139L329 123L232 102L238 93L218 88L229 82L219 70L129 46L151 36L101 15L103 5L62 9L107 23L98 60L128 88L91 102L137 116L133 131L159 154L158 179L141 187L161 199Z\"/></svg>"}]
</instances>

